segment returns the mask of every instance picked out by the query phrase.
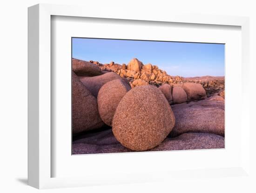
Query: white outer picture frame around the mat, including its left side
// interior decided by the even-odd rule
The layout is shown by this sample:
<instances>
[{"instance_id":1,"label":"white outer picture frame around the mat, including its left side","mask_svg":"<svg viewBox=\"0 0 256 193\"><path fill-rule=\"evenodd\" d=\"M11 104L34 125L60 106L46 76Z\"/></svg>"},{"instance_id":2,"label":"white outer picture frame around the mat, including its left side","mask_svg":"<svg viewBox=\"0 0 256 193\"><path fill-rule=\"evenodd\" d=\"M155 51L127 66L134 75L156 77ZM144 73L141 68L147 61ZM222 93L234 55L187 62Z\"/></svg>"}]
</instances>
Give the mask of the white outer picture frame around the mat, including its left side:
<instances>
[{"instance_id":1,"label":"white outer picture frame around the mat, including its left side","mask_svg":"<svg viewBox=\"0 0 256 193\"><path fill-rule=\"evenodd\" d=\"M86 10L86 12L84 11ZM105 19L129 19L155 22L175 22L204 25L240 26L242 32L242 79L241 99L245 99L249 85L246 77L249 77L249 18L237 16L217 15L186 15L169 14L152 16L150 13L122 12L109 15L106 12L94 12L81 6L62 6L39 4L28 8L28 184L36 188L76 187L100 184L118 184L132 182L150 182L159 180L174 180L187 176L189 178L202 178L215 176L238 176L250 178L249 169L249 100L241 100L241 161L236 166L205 168L190 171L148 171L149 173L125 173L123 176L101 177L96 174L73 177L52 177L52 131L51 127L51 16L105 18ZM240 126L241 127L241 126ZM163 152L164 153L164 152ZM137 154L137 153L136 153ZM139 153L140 154L140 153ZM99 155L98 155L99 156ZM101 157L104 155L101 155ZM142 156L142 155L141 155ZM147 156L144 154L143 156ZM102 159L102 158L101 158ZM154 175L148 175L154 174ZM161 178L159 176L162 176Z\"/></svg>"}]
</instances>

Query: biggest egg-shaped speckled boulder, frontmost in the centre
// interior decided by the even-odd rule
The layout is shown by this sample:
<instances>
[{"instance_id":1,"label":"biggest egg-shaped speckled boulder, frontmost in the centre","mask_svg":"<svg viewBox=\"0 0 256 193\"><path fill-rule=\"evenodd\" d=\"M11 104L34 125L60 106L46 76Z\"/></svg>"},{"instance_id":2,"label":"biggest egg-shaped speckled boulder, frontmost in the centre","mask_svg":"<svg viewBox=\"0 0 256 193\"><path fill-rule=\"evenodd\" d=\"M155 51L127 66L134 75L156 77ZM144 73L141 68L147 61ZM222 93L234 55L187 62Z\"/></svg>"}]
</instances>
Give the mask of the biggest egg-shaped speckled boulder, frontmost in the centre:
<instances>
[{"instance_id":1,"label":"biggest egg-shaped speckled boulder, frontmost in the centre","mask_svg":"<svg viewBox=\"0 0 256 193\"><path fill-rule=\"evenodd\" d=\"M162 91L145 85L129 90L121 99L112 130L123 146L144 151L159 145L174 125L175 116Z\"/></svg>"}]
</instances>

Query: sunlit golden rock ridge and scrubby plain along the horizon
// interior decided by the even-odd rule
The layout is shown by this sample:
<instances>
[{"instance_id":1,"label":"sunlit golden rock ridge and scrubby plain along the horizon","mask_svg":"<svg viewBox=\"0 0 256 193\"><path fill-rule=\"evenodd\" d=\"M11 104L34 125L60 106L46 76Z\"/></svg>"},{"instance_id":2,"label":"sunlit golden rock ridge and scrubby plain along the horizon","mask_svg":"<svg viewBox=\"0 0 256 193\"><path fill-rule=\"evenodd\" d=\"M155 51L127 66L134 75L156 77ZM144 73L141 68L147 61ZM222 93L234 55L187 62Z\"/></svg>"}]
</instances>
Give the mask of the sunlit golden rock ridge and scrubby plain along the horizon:
<instances>
[{"instance_id":1,"label":"sunlit golden rock ridge and scrubby plain along the horizon","mask_svg":"<svg viewBox=\"0 0 256 193\"><path fill-rule=\"evenodd\" d=\"M152 84L157 87L162 84L180 84L183 83L197 83L201 84L206 90L207 96L215 92L224 90L225 80L224 77L180 77L180 76L170 76L158 68L157 65L153 64L143 64L137 58L133 58L127 65L126 64L116 64L115 62L110 62L109 64L101 64L98 61L89 61L91 64L97 65L102 71L113 71L120 77L125 77L131 84L131 87Z\"/></svg>"}]
</instances>

